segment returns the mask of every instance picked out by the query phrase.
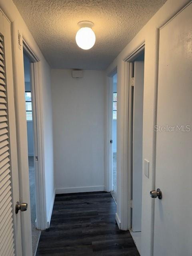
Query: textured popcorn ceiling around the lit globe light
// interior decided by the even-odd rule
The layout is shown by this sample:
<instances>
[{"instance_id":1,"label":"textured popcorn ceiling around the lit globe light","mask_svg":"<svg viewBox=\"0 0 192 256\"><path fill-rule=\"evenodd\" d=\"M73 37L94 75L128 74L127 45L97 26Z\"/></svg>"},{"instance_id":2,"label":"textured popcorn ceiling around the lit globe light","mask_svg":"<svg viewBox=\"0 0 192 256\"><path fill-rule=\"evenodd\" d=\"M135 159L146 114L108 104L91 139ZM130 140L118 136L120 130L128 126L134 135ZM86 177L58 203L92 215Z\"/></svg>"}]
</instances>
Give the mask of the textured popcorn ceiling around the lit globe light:
<instances>
[{"instance_id":1,"label":"textured popcorn ceiling around the lit globe light","mask_svg":"<svg viewBox=\"0 0 192 256\"><path fill-rule=\"evenodd\" d=\"M13 0L52 68L104 70L166 0ZM75 42L77 23L94 22L90 50Z\"/></svg>"}]
</instances>

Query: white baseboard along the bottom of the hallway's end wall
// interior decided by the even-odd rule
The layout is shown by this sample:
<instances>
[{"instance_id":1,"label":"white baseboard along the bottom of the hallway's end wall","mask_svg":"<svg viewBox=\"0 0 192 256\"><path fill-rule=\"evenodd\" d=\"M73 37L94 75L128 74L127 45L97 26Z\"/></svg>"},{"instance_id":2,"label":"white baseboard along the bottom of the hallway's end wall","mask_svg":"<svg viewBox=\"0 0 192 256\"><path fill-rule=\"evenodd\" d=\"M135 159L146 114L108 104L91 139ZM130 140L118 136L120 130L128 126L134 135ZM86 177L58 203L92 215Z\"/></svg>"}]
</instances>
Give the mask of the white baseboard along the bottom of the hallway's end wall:
<instances>
[{"instance_id":1,"label":"white baseboard along the bottom of the hallway's end wall","mask_svg":"<svg viewBox=\"0 0 192 256\"><path fill-rule=\"evenodd\" d=\"M90 186L90 187L74 187L74 188L56 188L56 194L81 193L81 192L96 192L105 191L105 186Z\"/></svg>"}]
</instances>

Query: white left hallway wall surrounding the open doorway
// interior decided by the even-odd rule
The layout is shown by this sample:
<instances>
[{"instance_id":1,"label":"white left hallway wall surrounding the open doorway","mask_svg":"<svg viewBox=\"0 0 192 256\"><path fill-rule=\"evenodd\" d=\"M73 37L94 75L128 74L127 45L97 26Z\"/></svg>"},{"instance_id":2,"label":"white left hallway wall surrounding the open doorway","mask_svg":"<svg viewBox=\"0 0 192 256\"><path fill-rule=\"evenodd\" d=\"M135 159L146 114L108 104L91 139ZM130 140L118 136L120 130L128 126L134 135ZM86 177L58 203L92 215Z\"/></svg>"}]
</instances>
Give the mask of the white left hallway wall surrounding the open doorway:
<instances>
[{"instance_id":1,"label":"white left hallway wall surrounding the open doorway","mask_svg":"<svg viewBox=\"0 0 192 256\"><path fill-rule=\"evenodd\" d=\"M44 162L42 171L45 179L45 197L46 197L46 219L49 221L49 215L52 211L52 200L54 198L54 169L53 169L53 152L52 152L52 103L51 103L51 81L50 66L42 55L38 45L28 30L24 20L20 16L12 0L0 0L0 8L12 22L12 55L14 71L14 92L16 103L16 127L17 127L17 144L18 144L18 167L20 176L20 200L29 203L29 184L28 184L28 150L27 150L27 125L24 97L24 65L23 50L18 47L18 31L39 59L40 88L43 95L42 99L42 131L43 131L43 151ZM25 184L25 186L22 184ZM22 237L23 254L30 255L30 211L22 215ZM26 232L26 229L28 231ZM25 251L27 249L27 251Z\"/></svg>"}]
</instances>

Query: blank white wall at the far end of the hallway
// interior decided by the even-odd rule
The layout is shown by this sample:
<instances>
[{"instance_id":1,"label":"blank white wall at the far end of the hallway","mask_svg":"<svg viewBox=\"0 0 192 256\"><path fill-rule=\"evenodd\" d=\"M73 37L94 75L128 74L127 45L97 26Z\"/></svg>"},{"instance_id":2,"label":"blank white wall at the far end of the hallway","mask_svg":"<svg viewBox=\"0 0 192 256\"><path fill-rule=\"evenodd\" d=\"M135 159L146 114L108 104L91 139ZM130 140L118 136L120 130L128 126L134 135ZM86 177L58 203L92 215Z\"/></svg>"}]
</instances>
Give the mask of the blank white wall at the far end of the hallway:
<instances>
[{"instance_id":1,"label":"blank white wall at the far end of the hallway","mask_svg":"<svg viewBox=\"0 0 192 256\"><path fill-rule=\"evenodd\" d=\"M104 71L52 69L56 193L104 190Z\"/></svg>"}]
</instances>

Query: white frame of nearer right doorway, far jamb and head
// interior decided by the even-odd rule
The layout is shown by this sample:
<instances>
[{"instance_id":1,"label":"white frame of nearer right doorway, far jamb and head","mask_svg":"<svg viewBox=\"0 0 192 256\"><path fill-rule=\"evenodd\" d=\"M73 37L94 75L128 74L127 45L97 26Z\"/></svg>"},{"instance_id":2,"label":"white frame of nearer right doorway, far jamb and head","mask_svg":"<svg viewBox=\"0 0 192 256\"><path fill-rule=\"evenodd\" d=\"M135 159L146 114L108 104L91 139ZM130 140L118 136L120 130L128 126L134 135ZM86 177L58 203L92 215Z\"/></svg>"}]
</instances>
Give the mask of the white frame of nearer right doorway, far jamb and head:
<instances>
[{"instance_id":1,"label":"white frame of nearer right doorway, far jamb and head","mask_svg":"<svg viewBox=\"0 0 192 256\"><path fill-rule=\"evenodd\" d=\"M122 194L124 194L124 202L122 202L122 212L124 216L124 225L126 229L132 227L132 113L133 113L133 102L132 102L132 73L133 73L133 61L141 54L145 49L145 43L141 44L134 52L132 52L127 58L124 59L124 84L125 84L125 95L127 96L124 100L125 104L125 133L124 138L127 144L125 144L126 154L122 156L124 162L124 181L122 187ZM142 179L143 184L143 179Z\"/></svg>"}]
</instances>

